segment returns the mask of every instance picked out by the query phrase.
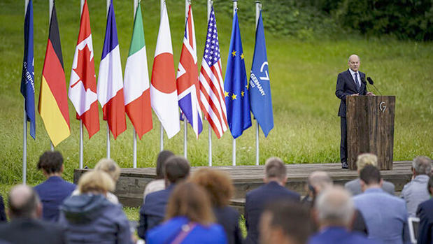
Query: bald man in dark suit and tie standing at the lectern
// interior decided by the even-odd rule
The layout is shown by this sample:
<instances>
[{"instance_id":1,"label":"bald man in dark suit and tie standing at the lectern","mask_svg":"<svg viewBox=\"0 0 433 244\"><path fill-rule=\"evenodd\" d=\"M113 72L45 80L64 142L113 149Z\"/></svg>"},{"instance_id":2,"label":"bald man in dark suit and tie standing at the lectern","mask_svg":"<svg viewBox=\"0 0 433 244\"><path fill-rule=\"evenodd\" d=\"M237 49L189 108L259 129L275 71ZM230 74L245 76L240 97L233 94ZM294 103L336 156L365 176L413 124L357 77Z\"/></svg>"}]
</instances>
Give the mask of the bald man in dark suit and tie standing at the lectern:
<instances>
[{"instance_id":1,"label":"bald man in dark suit and tie standing at the lectern","mask_svg":"<svg viewBox=\"0 0 433 244\"><path fill-rule=\"evenodd\" d=\"M367 92L365 73L359 71L360 64L360 57L357 55L350 55L348 59L349 69L339 73L339 76L336 78L335 95L341 99L339 108L339 117L341 118L341 168L349 168L347 162L346 96L374 96L371 92Z\"/></svg>"}]
</instances>

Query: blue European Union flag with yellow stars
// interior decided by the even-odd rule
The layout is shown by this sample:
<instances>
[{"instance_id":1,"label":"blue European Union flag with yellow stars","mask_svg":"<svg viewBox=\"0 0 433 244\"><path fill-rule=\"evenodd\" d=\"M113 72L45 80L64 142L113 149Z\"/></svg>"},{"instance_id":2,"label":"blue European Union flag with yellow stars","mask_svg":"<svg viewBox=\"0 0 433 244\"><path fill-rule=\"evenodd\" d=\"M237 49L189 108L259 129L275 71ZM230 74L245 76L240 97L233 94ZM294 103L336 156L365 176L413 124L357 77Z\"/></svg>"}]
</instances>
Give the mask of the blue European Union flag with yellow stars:
<instances>
[{"instance_id":1,"label":"blue European Union flag with yellow stars","mask_svg":"<svg viewBox=\"0 0 433 244\"><path fill-rule=\"evenodd\" d=\"M224 93L229 128L233 138L237 138L251 126L250 98L237 11L233 17L232 40L230 41L225 72Z\"/></svg>"}]
</instances>

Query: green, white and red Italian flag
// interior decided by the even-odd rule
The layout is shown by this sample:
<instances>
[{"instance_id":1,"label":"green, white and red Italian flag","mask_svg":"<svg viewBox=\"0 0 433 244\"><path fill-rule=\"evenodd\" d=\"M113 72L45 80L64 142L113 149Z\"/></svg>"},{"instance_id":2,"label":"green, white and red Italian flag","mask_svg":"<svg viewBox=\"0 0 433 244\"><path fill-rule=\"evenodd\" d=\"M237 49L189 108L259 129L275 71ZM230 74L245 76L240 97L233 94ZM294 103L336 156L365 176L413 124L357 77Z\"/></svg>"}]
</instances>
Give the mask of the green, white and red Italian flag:
<instances>
[{"instance_id":1,"label":"green, white and red Italian flag","mask_svg":"<svg viewBox=\"0 0 433 244\"><path fill-rule=\"evenodd\" d=\"M126 113L140 139L143 134L153 127L149 88L148 61L145 52L143 18L141 17L139 2L125 68L124 93Z\"/></svg>"}]
</instances>

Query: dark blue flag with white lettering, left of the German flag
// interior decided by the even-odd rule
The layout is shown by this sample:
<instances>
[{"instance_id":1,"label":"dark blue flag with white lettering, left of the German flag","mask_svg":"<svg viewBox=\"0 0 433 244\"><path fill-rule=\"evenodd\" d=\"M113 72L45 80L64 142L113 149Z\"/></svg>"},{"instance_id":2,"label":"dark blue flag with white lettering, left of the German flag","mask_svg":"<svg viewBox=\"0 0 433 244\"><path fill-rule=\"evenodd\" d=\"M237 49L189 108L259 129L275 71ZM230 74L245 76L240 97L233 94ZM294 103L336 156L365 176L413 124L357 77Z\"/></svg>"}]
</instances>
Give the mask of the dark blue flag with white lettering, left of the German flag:
<instances>
[{"instance_id":1,"label":"dark blue flag with white lettering, left of the German flag","mask_svg":"<svg viewBox=\"0 0 433 244\"><path fill-rule=\"evenodd\" d=\"M27 5L24 19L24 60L22 61L21 94L24 96L30 136L36 138L34 114L34 56L33 56L33 4Z\"/></svg>"}]
</instances>

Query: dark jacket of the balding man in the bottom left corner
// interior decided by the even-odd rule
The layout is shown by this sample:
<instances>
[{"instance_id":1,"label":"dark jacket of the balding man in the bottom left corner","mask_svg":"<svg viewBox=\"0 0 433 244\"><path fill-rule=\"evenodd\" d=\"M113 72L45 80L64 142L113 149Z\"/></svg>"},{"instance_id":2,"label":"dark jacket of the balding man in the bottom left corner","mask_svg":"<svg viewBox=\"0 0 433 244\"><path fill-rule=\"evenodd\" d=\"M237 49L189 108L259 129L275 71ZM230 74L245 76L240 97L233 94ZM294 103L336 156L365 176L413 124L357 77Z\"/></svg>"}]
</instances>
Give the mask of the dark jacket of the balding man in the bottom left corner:
<instances>
[{"instance_id":1,"label":"dark jacket of the balding man in the bottom left corner","mask_svg":"<svg viewBox=\"0 0 433 244\"><path fill-rule=\"evenodd\" d=\"M15 219L0 224L0 240L9 243L66 243L64 231L58 224L33 219Z\"/></svg>"}]
</instances>

